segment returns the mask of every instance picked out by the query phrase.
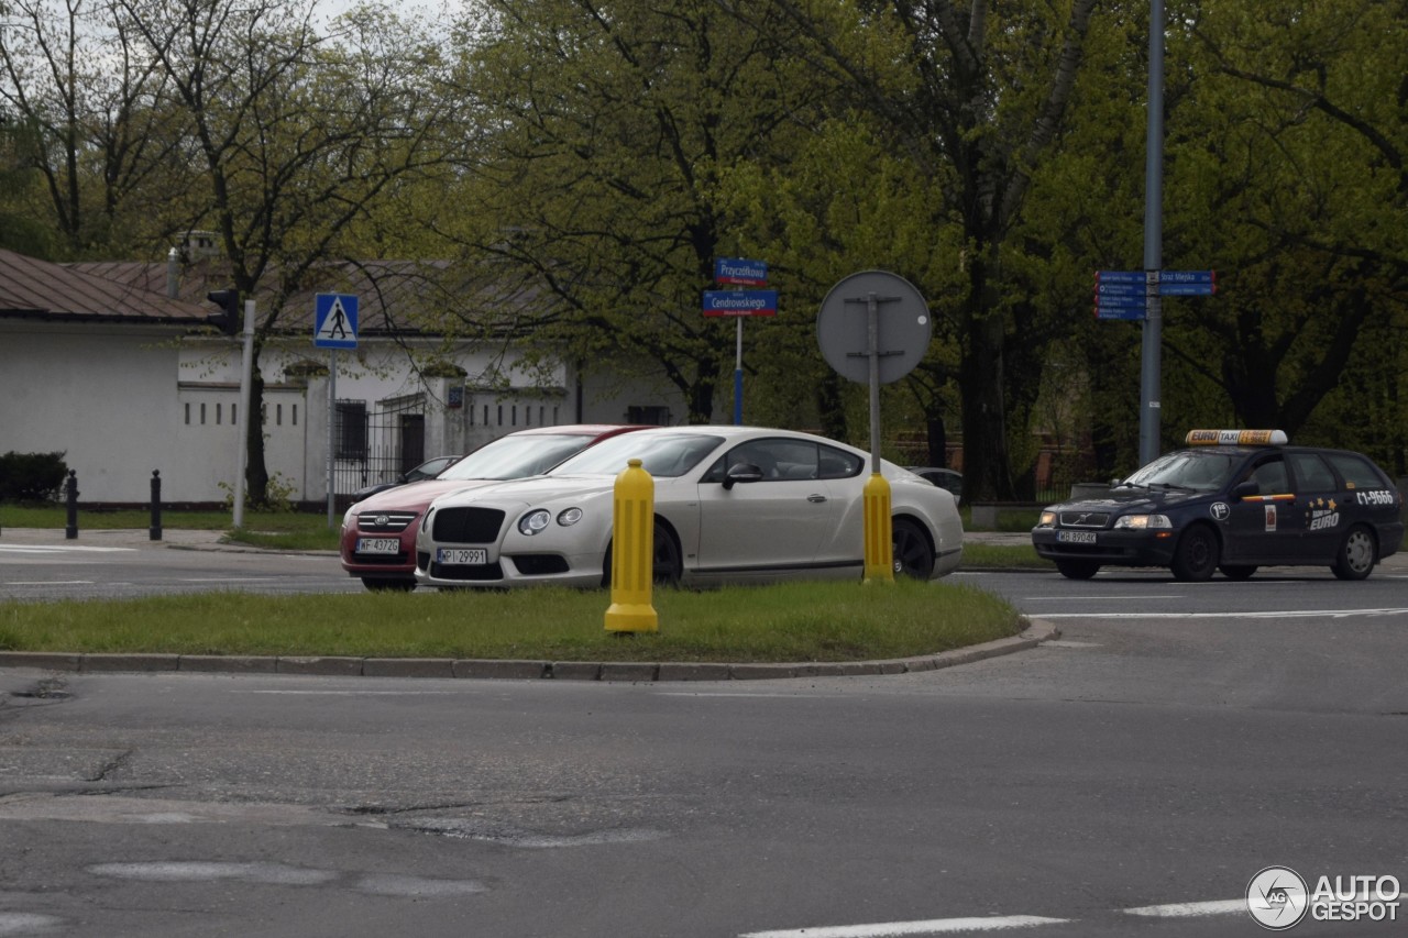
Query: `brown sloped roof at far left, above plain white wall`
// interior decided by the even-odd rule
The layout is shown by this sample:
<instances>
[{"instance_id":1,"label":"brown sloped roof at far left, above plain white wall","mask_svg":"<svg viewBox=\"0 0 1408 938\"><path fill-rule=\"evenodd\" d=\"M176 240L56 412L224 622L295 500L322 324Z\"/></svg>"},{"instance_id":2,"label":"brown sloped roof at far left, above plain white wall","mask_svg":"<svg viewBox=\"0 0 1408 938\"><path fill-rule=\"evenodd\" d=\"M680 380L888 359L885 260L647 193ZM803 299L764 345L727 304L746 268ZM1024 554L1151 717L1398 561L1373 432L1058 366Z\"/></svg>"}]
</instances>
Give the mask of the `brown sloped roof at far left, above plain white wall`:
<instances>
[{"instance_id":1,"label":"brown sloped roof at far left, above plain white wall","mask_svg":"<svg viewBox=\"0 0 1408 938\"><path fill-rule=\"evenodd\" d=\"M211 311L138 284L0 249L0 317L204 325Z\"/></svg>"}]
</instances>

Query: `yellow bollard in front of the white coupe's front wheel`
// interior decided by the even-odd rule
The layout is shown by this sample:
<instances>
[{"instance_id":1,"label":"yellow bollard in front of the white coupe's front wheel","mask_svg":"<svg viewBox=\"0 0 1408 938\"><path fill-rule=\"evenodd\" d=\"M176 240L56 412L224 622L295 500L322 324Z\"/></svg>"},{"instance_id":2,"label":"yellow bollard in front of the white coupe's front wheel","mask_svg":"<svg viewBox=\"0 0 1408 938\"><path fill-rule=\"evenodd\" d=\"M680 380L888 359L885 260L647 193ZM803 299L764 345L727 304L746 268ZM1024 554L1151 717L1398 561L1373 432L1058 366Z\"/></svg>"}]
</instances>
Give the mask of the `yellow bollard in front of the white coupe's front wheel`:
<instances>
[{"instance_id":1,"label":"yellow bollard in front of the white coupe's front wheel","mask_svg":"<svg viewBox=\"0 0 1408 938\"><path fill-rule=\"evenodd\" d=\"M611 508L611 607L608 632L659 630L650 586L655 558L655 480L639 459L617 476Z\"/></svg>"}]
</instances>

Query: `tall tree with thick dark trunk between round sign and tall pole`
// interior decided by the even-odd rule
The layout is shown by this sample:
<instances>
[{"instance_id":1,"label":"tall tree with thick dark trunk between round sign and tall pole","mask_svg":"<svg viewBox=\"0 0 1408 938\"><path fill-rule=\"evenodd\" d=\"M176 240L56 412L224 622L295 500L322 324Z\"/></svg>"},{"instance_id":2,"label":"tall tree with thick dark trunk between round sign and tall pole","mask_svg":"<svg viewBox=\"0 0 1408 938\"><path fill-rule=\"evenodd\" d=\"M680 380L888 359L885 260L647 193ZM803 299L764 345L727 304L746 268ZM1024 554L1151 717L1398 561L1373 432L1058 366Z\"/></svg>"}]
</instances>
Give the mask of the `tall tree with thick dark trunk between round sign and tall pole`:
<instances>
[{"instance_id":1,"label":"tall tree with thick dark trunk between round sign and tall pole","mask_svg":"<svg viewBox=\"0 0 1408 938\"><path fill-rule=\"evenodd\" d=\"M957 344L952 376L962 389L966 492L1014 497L1008 421L1014 406L1021 411L1029 401L1012 400L1022 382L1008 368L1008 346L1035 338L1028 317L1036 308L1007 292L1005 248L1032 170L1059 141L1094 1L860 3L822 13L772 0L759 8L807 35L804 55L818 73L846 89L852 107L870 115L936 196L915 208L926 210L936 248L922 269L943 273L918 286L938 300ZM929 366L935 387L948 383L948 368Z\"/></svg>"}]
</instances>

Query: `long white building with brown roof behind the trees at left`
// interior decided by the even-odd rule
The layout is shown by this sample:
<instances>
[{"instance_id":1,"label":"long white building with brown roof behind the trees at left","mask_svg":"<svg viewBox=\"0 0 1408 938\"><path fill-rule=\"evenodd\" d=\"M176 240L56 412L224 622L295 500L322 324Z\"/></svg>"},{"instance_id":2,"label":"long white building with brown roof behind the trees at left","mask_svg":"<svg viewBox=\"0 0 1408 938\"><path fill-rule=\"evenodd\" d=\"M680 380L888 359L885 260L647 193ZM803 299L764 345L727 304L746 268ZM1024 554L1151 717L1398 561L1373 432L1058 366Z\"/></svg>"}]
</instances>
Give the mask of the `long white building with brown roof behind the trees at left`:
<instances>
[{"instance_id":1,"label":"long white building with brown roof behind the trees at left","mask_svg":"<svg viewBox=\"0 0 1408 938\"><path fill-rule=\"evenodd\" d=\"M334 490L349 494L525 427L686 413L663 382L608 393L566 363L529 366L503 339L397 328L387 283L327 290L360 297L355 351L314 346L313 292L286 304L259 356L270 494L325 501L329 448ZM0 452L65 454L83 503L145 503L153 470L165 504L230 499L244 342L208 328L217 307L203 301L227 286L200 265L65 266L0 251Z\"/></svg>"}]
</instances>

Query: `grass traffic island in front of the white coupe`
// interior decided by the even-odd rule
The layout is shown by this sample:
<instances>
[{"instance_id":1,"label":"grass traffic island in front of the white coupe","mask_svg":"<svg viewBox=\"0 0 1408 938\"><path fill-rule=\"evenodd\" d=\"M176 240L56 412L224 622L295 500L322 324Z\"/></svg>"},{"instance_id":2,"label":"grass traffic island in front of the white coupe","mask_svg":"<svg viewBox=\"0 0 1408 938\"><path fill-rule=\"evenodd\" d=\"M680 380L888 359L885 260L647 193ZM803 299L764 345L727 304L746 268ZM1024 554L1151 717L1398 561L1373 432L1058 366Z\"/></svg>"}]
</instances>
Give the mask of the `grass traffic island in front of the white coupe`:
<instances>
[{"instance_id":1,"label":"grass traffic island in front of the white coupe","mask_svg":"<svg viewBox=\"0 0 1408 938\"><path fill-rule=\"evenodd\" d=\"M905 658L1019 632L1021 614L962 584L797 583L656 590L659 631L605 631L607 590L0 603L0 649L542 661L797 662Z\"/></svg>"}]
</instances>

